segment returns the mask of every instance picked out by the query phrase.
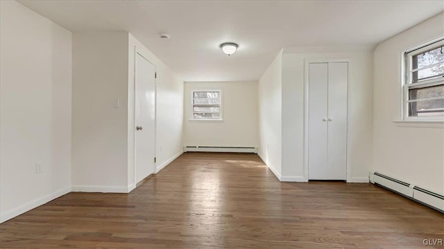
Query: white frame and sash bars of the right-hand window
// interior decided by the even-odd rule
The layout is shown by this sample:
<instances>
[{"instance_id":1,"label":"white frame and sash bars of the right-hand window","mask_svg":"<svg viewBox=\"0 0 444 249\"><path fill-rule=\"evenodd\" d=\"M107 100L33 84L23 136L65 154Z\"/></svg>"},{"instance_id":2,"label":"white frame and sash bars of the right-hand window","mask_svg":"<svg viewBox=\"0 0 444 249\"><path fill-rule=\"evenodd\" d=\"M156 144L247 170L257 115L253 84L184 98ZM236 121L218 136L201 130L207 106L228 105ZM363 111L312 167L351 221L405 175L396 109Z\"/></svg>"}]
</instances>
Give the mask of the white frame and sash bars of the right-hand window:
<instances>
[{"instance_id":1,"label":"white frame and sash bars of the right-hand window","mask_svg":"<svg viewBox=\"0 0 444 249\"><path fill-rule=\"evenodd\" d=\"M420 46L416 46L416 48L411 48L404 53L402 53L402 71L403 71L403 79L402 79L402 120L404 121L438 121L444 122L444 116L409 116L409 103L414 102L409 100L409 90L411 89L422 89L429 86L440 86L444 85L444 76L435 77L428 80L423 80L421 82L412 83L411 79L411 71L412 71L412 58L420 53L424 53L428 50L433 50L434 48L438 48L440 46L444 46L444 37L439 37L437 39L433 39L430 42L426 42ZM443 96L444 98L444 96ZM441 100L439 98L430 98L429 100Z\"/></svg>"}]
</instances>

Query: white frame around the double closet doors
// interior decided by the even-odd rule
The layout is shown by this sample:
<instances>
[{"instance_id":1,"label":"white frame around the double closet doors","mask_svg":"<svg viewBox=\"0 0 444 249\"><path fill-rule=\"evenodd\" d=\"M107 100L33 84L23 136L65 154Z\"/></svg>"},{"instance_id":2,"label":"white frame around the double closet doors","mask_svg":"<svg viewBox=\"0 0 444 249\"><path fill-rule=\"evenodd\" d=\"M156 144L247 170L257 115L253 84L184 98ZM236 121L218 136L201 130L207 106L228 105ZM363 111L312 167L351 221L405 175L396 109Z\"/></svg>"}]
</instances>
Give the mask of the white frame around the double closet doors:
<instances>
[{"instance_id":1,"label":"white frame around the double closet doors","mask_svg":"<svg viewBox=\"0 0 444 249\"><path fill-rule=\"evenodd\" d=\"M335 58L335 59L304 59L304 181L309 181L308 175L308 129L309 129L309 64L310 63L332 63L332 62L347 62L348 63L348 71L347 71L347 149L345 150L346 155L346 182L350 182L351 180L351 169L350 169L350 157L348 153L349 149L349 138L348 136L348 122L349 122L349 113L350 106L348 104L349 96L349 86L350 86L350 59L349 58Z\"/></svg>"}]
</instances>

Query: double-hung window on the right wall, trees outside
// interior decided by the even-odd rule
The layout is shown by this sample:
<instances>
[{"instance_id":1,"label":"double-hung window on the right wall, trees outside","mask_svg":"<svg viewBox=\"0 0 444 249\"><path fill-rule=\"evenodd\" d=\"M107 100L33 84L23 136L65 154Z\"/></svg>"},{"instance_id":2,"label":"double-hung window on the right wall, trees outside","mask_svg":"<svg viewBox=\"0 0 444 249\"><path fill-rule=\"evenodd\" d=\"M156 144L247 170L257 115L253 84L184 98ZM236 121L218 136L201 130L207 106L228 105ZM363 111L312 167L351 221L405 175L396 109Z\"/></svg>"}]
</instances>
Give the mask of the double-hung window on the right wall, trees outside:
<instances>
[{"instance_id":1,"label":"double-hung window on the right wall, trees outside","mask_svg":"<svg viewBox=\"0 0 444 249\"><path fill-rule=\"evenodd\" d=\"M404 119L444 120L444 39L405 53Z\"/></svg>"}]
</instances>

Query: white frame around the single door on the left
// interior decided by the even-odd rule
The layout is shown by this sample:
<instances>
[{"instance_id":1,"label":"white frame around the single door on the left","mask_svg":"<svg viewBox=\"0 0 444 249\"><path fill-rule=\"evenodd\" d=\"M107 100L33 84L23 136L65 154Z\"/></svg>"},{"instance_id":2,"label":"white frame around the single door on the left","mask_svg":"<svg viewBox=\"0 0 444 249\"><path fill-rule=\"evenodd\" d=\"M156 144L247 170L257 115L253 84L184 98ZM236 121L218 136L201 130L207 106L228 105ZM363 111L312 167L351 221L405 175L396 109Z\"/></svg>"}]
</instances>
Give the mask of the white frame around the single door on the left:
<instances>
[{"instance_id":1,"label":"white frame around the single door on the left","mask_svg":"<svg viewBox=\"0 0 444 249\"><path fill-rule=\"evenodd\" d=\"M133 78L133 127L131 127L131 129L133 129L133 167L134 167L134 176L133 176L133 181L134 181L134 188L137 187L137 178L136 178L136 68L137 68L137 55L142 56L144 59L146 59L149 63L153 64L146 56L143 55L142 50L137 49L137 46L134 46L134 68L133 68L133 73L134 73L134 78ZM155 64L153 64L154 66L154 71L157 72L157 68L155 67ZM157 77L154 77L154 157L156 157L156 148L157 148L157 138L156 138L156 131L157 131ZM154 162L154 172L153 174L156 174L156 162ZM143 181L143 180L142 180Z\"/></svg>"}]
</instances>

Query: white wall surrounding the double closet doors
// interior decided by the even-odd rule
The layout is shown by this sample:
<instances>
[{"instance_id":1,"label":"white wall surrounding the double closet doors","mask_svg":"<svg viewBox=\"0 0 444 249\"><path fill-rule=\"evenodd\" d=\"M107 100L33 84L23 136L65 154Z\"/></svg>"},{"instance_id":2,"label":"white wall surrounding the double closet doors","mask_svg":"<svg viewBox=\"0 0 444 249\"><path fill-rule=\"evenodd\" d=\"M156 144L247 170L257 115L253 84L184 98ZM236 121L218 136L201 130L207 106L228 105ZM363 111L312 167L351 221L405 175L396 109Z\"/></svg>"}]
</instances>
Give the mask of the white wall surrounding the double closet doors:
<instances>
[{"instance_id":1,"label":"white wall surrounding the double closet doors","mask_svg":"<svg viewBox=\"0 0 444 249\"><path fill-rule=\"evenodd\" d=\"M373 54L366 47L285 48L282 55L282 180L307 181L305 61L348 59L348 181L368 182L372 165Z\"/></svg>"}]
</instances>

